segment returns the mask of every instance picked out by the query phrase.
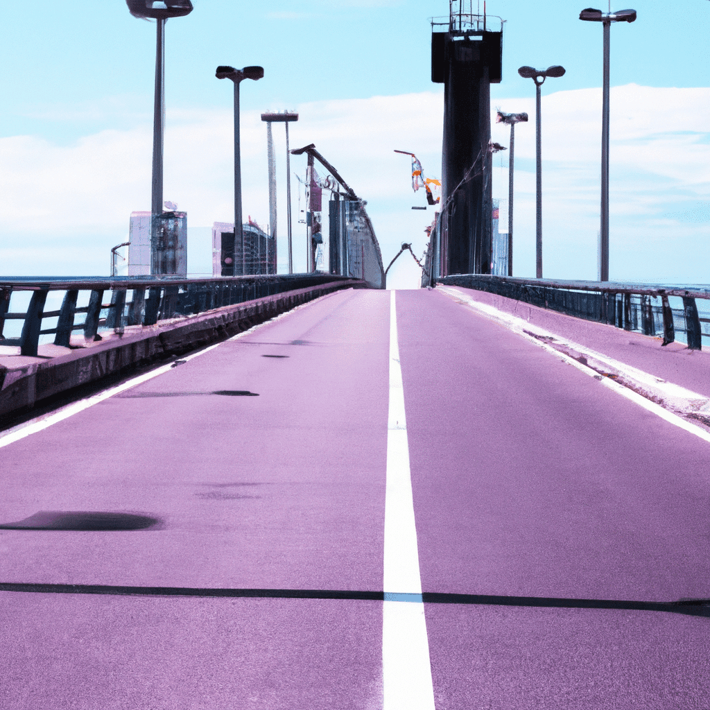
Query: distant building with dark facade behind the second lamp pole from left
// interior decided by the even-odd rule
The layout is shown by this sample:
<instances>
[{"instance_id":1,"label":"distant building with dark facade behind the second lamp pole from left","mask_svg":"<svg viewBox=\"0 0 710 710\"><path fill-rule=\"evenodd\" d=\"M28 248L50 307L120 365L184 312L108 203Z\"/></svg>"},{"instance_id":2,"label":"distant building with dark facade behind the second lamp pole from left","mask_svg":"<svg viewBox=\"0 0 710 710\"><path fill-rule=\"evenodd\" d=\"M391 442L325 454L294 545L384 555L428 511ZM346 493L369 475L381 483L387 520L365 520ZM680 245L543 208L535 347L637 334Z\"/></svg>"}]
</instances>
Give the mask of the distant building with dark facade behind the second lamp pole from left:
<instances>
[{"instance_id":1,"label":"distant building with dark facade behind the second lamp pole from left","mask_svg":"<svg viewBox=\"0 0 710 710\"><path fill-rule=\"evenodd\" d=\"M273 237L256 222L241 227L244 233L244 273L276 273L276 249ZM241 244L234 251L234 222L214 222L212 225L212 275L241 275Z\"/></svg>"}]
</instances>

